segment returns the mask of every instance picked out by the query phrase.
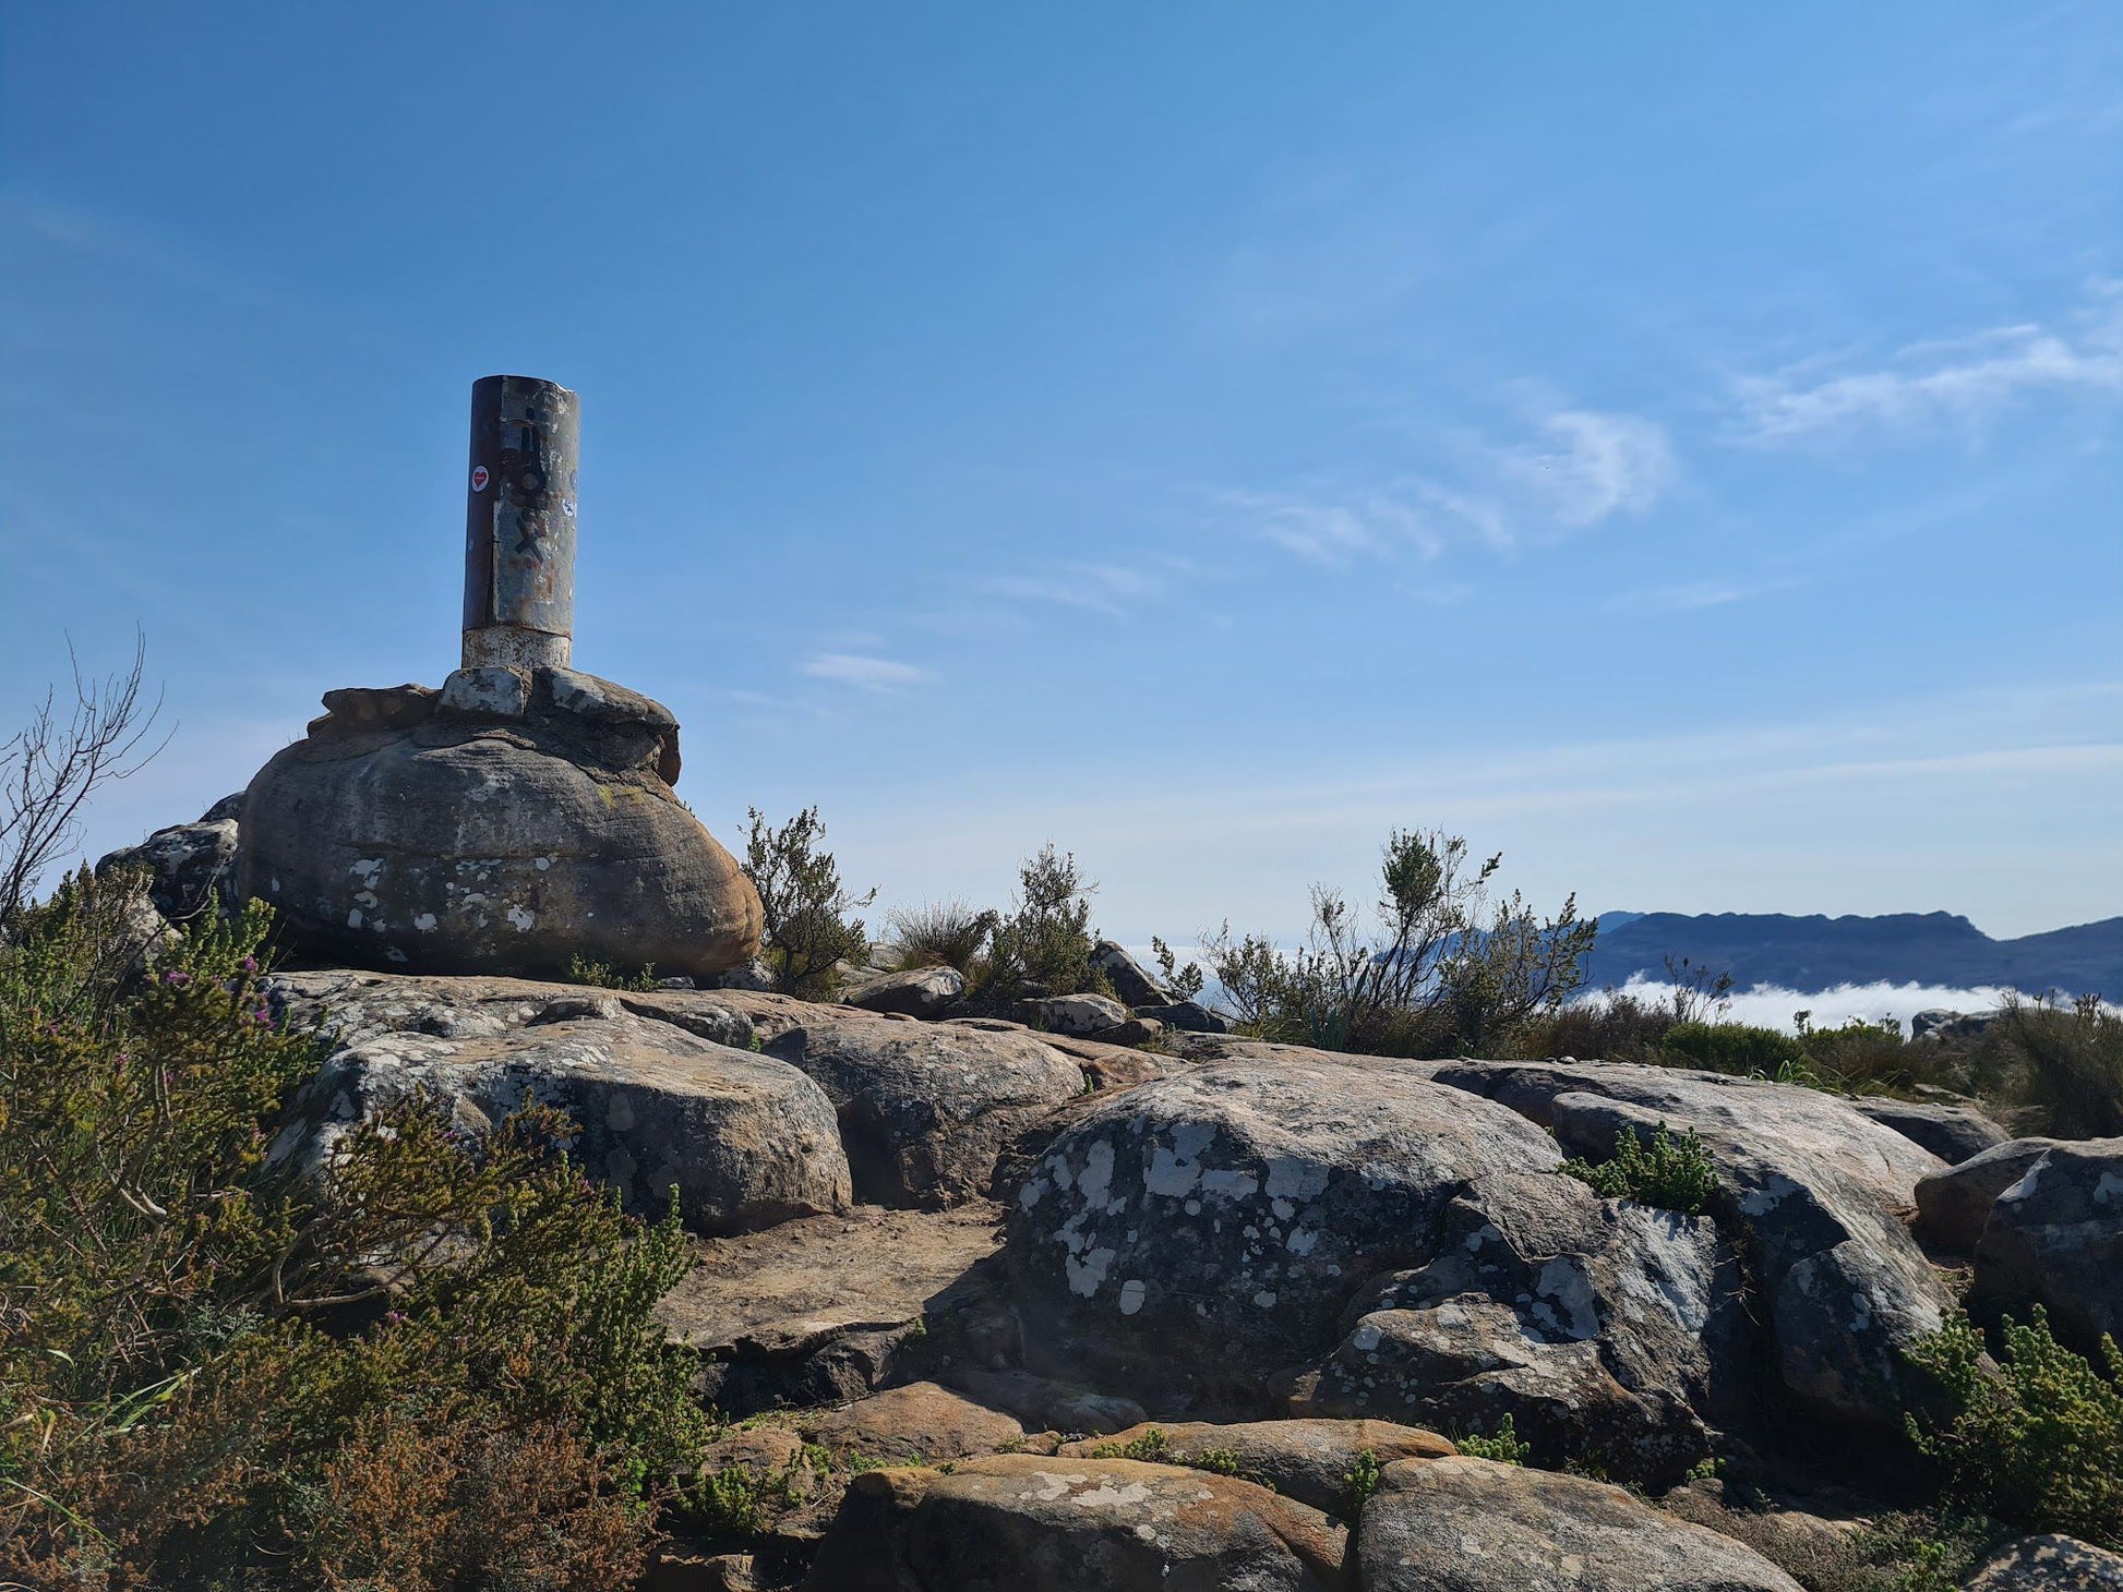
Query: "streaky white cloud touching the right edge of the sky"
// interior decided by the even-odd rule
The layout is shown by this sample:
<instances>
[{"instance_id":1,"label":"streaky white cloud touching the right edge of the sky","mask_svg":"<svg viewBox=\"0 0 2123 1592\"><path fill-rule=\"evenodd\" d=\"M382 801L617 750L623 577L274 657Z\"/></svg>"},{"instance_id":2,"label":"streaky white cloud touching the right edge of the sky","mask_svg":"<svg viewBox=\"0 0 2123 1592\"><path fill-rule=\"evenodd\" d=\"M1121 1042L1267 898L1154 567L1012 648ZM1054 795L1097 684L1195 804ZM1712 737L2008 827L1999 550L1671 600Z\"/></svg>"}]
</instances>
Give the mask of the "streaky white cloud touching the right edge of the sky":
<instances>
[{"instance_id":1,"label":"streaky white cloud touching the right edge of the sky","mask_svg":"<svg viewBox=\"0 0 2123 1592\"><path fill-rule=\"evenodd\" d=\"M1991 327L1900 348L1875 369L1817 365L1734 384L1739 435L1758 444L1972 422L2040 391L2123 393L2123 289L2110 284L2070 325Z\"/></svg>"}]
</instances>

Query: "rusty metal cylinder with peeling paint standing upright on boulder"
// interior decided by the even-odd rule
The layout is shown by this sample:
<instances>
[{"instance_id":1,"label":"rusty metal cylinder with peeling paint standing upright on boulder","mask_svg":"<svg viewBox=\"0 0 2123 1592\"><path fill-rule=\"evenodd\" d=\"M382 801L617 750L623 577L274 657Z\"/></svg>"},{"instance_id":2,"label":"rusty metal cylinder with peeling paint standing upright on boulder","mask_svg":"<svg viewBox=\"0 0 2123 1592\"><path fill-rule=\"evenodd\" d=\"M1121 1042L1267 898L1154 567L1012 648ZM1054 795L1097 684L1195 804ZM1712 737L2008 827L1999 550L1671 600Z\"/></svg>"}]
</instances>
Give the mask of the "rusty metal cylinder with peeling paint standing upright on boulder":
<instances>
[{"instance_id":1,"label":"rusty metal cylinder with peeling paint standing upright on boulder","mask_svg":"<svg viewBox=\"0 0 2123 1592\"><path fill-rule=\"evenodd\" d=\"M535 376L471 384L465 669L565 669L575 635L582 401Z\"/></svg>"}]
</instances>

